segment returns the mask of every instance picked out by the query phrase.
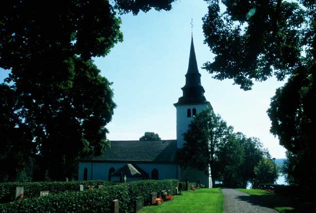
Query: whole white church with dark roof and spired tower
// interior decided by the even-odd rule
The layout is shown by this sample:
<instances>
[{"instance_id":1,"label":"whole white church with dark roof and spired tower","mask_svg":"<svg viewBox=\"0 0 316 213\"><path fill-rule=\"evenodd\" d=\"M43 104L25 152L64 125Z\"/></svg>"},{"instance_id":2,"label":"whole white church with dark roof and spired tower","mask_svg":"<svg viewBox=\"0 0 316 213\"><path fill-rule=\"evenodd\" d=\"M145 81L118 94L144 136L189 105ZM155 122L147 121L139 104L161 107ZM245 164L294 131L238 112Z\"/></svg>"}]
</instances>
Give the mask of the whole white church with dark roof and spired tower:
<instances>
[{"instance_id":1,"label":"whole white church with dark roof and spired tower","mask_svg":"<svg viewBox=\"0 0 316 213\"><path fill-rule=\"evenodd\" d=\"M79 180L111 180L114 182L134 180L178 179L190 182L201 179L211 187L211 178L193 168L182 169L178 165L177 152L185 143L183 133L193 117L203 109L211 108L204 97L201 74L191 38L191 49L183 95L174 104L176 107L176 140L159 141L111 141L111 147L100 156L91 156L79 161ZM210 168L209 168L210 170Z\"/></svg>"}]
</instances>

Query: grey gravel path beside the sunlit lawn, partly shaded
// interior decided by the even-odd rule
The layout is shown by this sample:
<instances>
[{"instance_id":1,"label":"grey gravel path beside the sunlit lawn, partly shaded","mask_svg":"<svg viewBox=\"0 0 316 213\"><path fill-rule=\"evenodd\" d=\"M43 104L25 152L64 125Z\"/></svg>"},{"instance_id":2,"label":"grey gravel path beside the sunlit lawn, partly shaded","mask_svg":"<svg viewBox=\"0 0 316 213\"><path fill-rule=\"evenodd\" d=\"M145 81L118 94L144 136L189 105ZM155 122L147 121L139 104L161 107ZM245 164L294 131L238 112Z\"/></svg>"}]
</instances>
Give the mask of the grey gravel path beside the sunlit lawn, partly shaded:
<instances>
[{"instance_id":1,"label":"grey gravel path beside the sunlit lawn, partly shaded","mask_svg":"<svg viewBox=\"0 0 316 213\"><path fill-rule=\"evenodd\" d=\"M258 199L235 189L223 189L224 213L278 213Z\"/></svg>"}]
</instances>

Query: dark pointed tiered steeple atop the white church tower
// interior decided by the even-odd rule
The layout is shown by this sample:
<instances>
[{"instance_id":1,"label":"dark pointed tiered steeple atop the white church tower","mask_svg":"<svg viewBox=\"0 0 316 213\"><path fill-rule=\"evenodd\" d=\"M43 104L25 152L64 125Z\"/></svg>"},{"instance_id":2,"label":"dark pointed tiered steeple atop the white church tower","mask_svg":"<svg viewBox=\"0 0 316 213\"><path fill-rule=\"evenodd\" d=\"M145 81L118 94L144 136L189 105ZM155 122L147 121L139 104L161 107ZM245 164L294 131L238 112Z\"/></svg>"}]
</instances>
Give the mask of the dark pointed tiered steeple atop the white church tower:
<instances>
[{"instance_id":1,"label":"dark pointed tiered steeple atop the white church tower","mask_svg":"<svg viewBox=\"0 0 316 213\"><path fill-rule=\"evenodd\" d=\"M195 104L206 102L204 97L205 90L201 85L201 74L197 68L196 56L194 51L193 36L191 37L191 49L189 57L189 66L185 75L185 85L181 88L182 97L174 105Z\"/></svg>"}]
</instances>

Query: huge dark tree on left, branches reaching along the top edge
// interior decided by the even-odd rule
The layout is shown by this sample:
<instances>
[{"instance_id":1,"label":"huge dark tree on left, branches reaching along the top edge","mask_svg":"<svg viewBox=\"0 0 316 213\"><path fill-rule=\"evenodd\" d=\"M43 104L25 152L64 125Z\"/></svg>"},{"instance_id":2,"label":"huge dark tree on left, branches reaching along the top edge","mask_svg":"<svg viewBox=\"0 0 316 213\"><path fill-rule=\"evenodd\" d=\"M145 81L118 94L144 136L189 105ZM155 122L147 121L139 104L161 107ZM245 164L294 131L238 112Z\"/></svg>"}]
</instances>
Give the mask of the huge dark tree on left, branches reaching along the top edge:
<instances>
[{"instance_id":1,"label":"huge dark tree on left, branches reaching along the top edge","mask_svg":"<svg viewBox=\"0 0 316 213\"><path fill-rule=\"evenodd\" d=\"M16 98L10 110L19 120L13 129L31 132L21 143L35 147L23 154L39 162L39 179L45 170L53 180L70 178L80 156L100 155L109 144L105 125L116 105L111 83L100 76L91 57L105 56L123 41L117 12L170 10L173 1L0 3L0 67L11 69L5 82L12 85ZM5 122L1 126L9 125Z\"/></svg>"}]
</instances>

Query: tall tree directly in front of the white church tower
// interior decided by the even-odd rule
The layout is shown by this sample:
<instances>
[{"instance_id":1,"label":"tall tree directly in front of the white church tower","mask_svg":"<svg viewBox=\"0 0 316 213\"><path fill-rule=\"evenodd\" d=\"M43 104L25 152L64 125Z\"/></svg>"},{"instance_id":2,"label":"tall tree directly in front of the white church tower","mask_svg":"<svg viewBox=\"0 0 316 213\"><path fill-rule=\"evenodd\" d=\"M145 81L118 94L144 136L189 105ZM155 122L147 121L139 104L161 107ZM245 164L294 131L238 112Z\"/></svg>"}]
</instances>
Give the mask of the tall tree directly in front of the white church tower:
<instances>
[{"instance_id":1,"label":"tall tree directly in front of the white church tower","mask_svg":"<svg viewBox=\"0 0 316 213\"><path fill-rule=\"evenodd\" d=\"M233 128L227 126L220 115L215 115L211 109L197 114L184 134L186 143L179 153L180 166L193 167L203 171L212 177L214 184L217 178L217 173L214 171L215 152L232 130ZM211 166L211 174L209 166Z\"/></svg>"}]
</instances>

